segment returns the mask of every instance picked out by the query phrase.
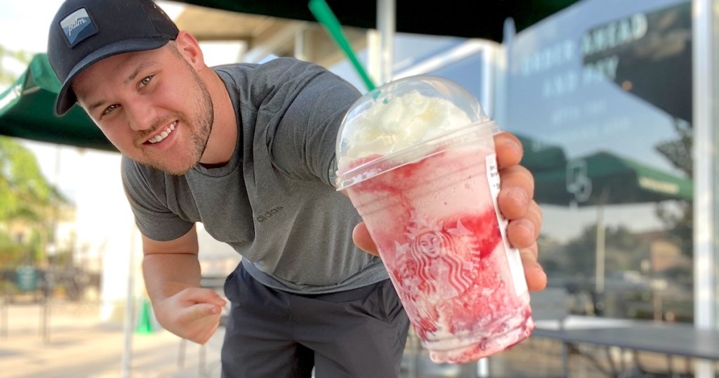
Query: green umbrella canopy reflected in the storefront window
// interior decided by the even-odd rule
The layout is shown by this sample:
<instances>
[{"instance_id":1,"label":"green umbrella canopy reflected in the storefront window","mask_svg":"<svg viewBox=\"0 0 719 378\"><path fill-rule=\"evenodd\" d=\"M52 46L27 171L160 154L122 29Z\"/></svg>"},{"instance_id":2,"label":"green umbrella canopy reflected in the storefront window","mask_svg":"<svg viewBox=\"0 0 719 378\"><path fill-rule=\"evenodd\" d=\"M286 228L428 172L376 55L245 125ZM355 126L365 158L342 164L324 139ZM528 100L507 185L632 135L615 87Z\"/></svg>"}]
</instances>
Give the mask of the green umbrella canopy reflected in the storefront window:
<instances>
[{"instance_id":1,"label":"green umbrella canopy reflected in the storefront window","mask_svg":"<svg viewBox=\"0 0 719 378\"><path fill-rule=\"evenodd\" d=\"M694 187L685 179L643 163L599 152L572 159L566 168L534 174L540 204L579 206L690 200Z\"/></svg>"}]
</instances>

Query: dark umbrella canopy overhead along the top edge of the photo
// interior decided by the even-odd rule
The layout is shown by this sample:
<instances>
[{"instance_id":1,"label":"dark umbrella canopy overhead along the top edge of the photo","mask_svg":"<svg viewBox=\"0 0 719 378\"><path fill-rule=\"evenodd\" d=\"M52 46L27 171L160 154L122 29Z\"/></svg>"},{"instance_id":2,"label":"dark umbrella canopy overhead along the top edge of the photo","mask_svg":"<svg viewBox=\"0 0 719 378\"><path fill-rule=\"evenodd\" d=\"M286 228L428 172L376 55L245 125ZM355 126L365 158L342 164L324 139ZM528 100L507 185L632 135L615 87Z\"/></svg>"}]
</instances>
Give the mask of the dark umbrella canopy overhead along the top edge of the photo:
<instances>
[{"instance_id":1,"label":"dark umbrella canopy overhead along the top edge of the photo","mask_svg":"<svg viewBox=\"0 0 719 378\"><path fill-rule=\"evenodd\" d=\"M182 1L232 12L315 21L308 9L308 0ZM502 42L505 19L512 18L516 30L521 31L577 1L579 0L396 0L396 31ZM377 25L376 0L327 0L327 4L344 26L374 29Z\"/></svg>"}]
</instances>

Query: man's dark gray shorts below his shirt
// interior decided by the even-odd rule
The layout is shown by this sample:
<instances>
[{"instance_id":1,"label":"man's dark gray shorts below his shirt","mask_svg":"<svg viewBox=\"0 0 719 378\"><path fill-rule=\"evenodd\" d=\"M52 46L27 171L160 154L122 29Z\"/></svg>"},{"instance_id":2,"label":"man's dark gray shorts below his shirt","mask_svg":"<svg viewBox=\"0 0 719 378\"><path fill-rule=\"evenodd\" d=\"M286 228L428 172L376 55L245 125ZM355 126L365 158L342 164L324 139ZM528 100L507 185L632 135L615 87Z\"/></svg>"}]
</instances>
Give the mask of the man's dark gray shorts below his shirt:
<instances>
[{"instance_id":1,"label":"man's dark gray shorts below his shirt","mask_svg":"<svg viewBox=\"0 0 719 378\"><path fill-rule=\"evenodd\" d=\"M226 279L232 307L223 378L398 377L409 320L390 280L330 294L266 287L242 264Z\"/></svg>"}]
</instances>

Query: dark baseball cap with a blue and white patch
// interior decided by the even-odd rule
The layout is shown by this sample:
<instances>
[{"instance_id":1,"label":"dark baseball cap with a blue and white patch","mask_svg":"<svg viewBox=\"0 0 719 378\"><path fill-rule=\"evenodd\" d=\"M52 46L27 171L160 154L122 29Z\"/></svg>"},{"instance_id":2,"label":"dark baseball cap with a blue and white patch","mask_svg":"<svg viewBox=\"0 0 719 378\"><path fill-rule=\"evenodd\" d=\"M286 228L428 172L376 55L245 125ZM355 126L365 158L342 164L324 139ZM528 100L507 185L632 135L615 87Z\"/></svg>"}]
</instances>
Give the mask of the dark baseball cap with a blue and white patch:
<instances>
[{"instance_id":1,"label":"dark baseball cap with a blue and white patch","mask_svg":"<svg viewBox=\"0 0 719 378\"><path fill-rule=\"evenodd\" d=\"M66 0L47 39L47 58L63 84L55 114L65 114L77 102L70 84L93 63L161 48L177 36L175 23L152 0Z\"/></svg>"}]
</instances>

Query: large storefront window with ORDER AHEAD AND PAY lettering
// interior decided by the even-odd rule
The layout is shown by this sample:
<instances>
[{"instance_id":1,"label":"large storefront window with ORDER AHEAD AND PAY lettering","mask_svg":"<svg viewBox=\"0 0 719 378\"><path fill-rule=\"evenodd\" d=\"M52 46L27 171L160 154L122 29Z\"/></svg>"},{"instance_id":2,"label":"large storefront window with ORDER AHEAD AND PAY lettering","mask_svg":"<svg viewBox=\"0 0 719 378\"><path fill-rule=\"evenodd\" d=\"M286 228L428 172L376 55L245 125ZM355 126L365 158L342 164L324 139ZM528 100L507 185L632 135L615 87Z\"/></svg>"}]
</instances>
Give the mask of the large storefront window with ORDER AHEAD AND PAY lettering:
<instances>
[{"instance_id":1,"label":"large storefront window with ORDER AHEAD AND PAY lettering","mask_svg":"<svg viewBox=\"0 0 719 378\"><path fill-rule=\"evenodd\" d=\"M575 313L692 321L691 20L690 1L591 0L511 45L503 119Z\"/></svg>"}]
</instances>

